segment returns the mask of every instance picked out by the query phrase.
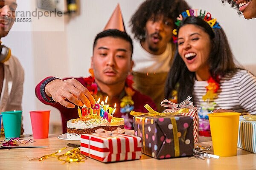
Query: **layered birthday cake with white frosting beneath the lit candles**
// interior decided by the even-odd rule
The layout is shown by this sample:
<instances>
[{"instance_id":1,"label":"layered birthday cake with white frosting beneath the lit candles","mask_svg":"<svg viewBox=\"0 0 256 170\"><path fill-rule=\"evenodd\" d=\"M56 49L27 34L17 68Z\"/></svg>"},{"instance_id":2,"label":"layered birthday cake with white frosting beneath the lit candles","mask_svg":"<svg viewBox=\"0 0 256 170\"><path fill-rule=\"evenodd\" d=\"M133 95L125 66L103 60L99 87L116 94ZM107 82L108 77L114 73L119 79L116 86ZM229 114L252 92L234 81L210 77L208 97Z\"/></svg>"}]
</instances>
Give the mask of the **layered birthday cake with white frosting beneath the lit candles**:
<instances>
[{"instance_id":1,"label":"layered birthday cake with white frosting beneath the lit candles","mask_svg":"<svg viewBox=\"0 0 256 170\"><path fill-rule=\"evenodd\" d=\"M117 127L124 129L124 125L125 120L123 118L113 117L109 122L97 114L90 114L67 121L67 139L80 140L82 134L95 133L96 129L102 128L113 131Z\"/></svg>"}]
</instances>

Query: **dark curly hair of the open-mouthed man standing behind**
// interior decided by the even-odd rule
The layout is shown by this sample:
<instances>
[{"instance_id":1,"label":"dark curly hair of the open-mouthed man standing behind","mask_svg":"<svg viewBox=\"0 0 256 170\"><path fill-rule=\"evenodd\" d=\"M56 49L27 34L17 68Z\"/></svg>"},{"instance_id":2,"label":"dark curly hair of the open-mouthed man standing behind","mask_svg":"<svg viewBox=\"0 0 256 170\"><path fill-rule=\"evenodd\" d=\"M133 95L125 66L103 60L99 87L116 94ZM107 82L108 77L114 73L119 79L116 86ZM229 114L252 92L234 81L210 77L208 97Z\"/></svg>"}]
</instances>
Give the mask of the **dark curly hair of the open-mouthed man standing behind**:
<instances>
[{"instance_id":1,"label":"dark curly hair of the open-mouthed man standing behind","mask_svg":"<svg viewBox=\"0 0 256 170\"><path fill-rule=\"evenodd\" d=\"M131 17L131 32L135 39L144 41L144 28L149 18L154 17L155 20L163 15L175 22L178 15L186 9L189 9L189 5L184 0L145 0Z\"/></svg>"}]
</instances>

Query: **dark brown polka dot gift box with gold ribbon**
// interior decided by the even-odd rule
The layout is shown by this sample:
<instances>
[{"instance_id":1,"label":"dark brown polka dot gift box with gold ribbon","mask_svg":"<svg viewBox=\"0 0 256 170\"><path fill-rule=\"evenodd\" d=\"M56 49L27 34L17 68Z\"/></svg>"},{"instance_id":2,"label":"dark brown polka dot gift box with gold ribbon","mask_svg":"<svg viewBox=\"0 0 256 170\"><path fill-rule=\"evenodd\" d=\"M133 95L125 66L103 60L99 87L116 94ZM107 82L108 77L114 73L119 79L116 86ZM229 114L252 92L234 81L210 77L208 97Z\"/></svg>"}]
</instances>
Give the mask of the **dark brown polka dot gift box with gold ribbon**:
<instances>
[{"instance_id":1,"label":"dark brown polka dot gift box with gold ribbon","mask_svg":"<svg viewBox=\"0 0 256 170\"><path fill-rule=\"evenodd\" d=\"M193 155L192 117L158 112L130 114L134 115L135 136L142 138L142 153L156 159Z\"/></svg>"}]
</instances>

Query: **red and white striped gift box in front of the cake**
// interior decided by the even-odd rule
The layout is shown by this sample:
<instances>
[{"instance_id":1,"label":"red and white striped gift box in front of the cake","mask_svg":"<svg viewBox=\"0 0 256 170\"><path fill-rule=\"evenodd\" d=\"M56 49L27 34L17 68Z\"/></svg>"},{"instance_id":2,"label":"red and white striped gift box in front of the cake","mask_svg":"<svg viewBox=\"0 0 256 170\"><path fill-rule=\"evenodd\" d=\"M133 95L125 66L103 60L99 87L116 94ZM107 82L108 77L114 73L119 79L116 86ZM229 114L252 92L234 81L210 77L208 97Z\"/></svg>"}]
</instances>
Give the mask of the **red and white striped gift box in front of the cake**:
<instances>
[{"instance_id":1,"label":"red and white striped gift box in front of the cake","mask_svg":"<svg viewBox=\"0 0 256 170\"><path fill-rule=\"evenodd\" d=\"M85 134L81 135L81 153L102 162L140 159L141 138L125 134Z\"/></svg>"}]
</instances>

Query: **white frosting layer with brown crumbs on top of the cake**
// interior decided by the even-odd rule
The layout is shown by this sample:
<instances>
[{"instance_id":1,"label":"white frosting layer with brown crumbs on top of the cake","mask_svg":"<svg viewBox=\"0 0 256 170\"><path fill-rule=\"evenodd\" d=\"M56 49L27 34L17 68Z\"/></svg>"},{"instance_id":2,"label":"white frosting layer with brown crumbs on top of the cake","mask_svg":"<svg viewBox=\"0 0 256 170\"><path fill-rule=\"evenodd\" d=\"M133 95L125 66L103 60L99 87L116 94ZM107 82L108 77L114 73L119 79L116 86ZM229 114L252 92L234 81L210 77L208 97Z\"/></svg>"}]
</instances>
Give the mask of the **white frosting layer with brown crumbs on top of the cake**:
<instances>
[{"instance_id":1,"label":"white frosting layer with brown crumbs on top of the cake","mask_svg":"<svg viewBox=\"0 0 256 170\"><path fill-rule=\"evenodd\" d=\"M107 119L102 119L101 116L88 115L78 119L71 119L67 121L67 128L70 129L88 129L97 126L122 126L125 124L123 118L113 117L111 122Z\"/></svg>"}]
</instances>

